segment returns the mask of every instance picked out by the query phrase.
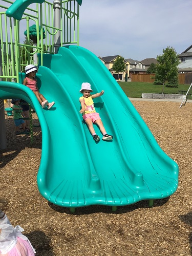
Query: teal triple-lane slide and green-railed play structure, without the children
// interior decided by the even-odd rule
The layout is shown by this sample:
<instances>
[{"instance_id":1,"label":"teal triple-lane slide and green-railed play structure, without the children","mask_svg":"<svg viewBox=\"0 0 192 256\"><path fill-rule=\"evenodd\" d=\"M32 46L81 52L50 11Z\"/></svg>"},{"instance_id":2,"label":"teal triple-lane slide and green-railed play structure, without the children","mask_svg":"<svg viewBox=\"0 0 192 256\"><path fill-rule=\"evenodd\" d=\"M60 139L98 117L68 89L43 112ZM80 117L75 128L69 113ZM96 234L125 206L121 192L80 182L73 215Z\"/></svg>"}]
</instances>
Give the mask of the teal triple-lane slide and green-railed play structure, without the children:
<instances>
[{"instance_id":1,"label":"teal triple-lane slide and green-railed play structure, without the children","mask_svg":"<svg viewBox=\"0 0 192 256\"><path fill-rule=\"evenodd\" d=\"M1 131L5 135L3 99L21 98L36 111L42 130L37 174L40 194L71 211L93 204L115 210L141 200L149 200L151 206L154 199L172 195L178 186L177 163L161 150L99 58L79 46L81 1L3 2L8 6L0 5L4 9L0 13ZM36 31L40 26L40 32L30 45L34 24ZM44 30L45 39L40 39ZM27 45L21 42L24 31ZM22 71L29 63L38 65L39 91L56 102L51 111L42 110L34 93L22 85ZM90 82L94 92L105 91L102 99L95 100L95 107L114 135L112 142L95 143L82 124L78 113L82 82ZM99 134L97 127L96 131ZM6 145L5 136L0 143Z\"/></svg>"}]
</instances>

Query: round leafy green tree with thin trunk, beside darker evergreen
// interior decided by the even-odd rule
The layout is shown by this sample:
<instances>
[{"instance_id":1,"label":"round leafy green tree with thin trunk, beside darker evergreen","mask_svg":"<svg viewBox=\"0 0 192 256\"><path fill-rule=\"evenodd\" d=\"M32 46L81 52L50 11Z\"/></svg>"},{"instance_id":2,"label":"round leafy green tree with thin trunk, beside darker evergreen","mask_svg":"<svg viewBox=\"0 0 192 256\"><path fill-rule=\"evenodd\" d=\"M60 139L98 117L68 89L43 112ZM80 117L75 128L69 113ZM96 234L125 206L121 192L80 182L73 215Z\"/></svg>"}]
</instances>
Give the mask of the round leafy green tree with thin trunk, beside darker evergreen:
<instances>
[{"instance_id":1,"label":"round leafy green tree with thin trunk, beside darker evergreen","mask_svg":"<svg viewBox=\"0 0 192 256\"><path fill-rule=\"evenodd\" d=\"M170 82L172 79L178 78L178 54L173 47L167 47L166 49L163 49L162 55L157 56L157 61L155 79L163 81L164 90L164 84L166 81Z\"/></svg>"}]
</instances>

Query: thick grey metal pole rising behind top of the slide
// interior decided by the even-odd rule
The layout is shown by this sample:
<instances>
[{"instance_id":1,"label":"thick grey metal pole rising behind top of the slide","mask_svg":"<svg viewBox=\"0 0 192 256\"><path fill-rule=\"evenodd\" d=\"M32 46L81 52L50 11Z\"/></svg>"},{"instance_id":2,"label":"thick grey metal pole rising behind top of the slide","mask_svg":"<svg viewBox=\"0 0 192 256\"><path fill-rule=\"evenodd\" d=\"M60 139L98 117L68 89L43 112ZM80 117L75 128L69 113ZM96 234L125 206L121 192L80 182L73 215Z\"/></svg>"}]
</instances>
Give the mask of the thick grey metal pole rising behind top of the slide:
<instances>
[{"instance_id":1,"label":"thick grey metal pole rising behind top of the slide","mask_svg":"<svg viewBox=\"0 0 192 256\"><path fill-rule=\"evenodd\" d=\"M60 0L55 0L54 4L54 27L60 29ZM54 47L55 47L55 54L57 54L60 45L60 30L54 36Z\"/></svg>"}]
</instances>

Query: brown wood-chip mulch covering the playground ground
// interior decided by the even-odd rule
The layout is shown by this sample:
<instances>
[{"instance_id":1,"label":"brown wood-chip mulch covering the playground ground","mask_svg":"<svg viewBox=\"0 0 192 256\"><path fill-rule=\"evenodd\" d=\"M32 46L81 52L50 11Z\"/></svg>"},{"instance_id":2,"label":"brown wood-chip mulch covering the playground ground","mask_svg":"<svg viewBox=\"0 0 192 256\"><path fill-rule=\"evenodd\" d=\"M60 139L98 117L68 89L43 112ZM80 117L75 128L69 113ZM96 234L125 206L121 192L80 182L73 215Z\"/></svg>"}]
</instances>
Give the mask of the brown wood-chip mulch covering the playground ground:
<instances>
[{"instance_id":1,"label":"brown wood-chip mulch covering the playground ground","mask_svg":"<svg viewBox=\"0 0 192 256\"><path fill-rule=\"evenodd\" d=\"M15 135L6 115L7 149L0 151L0 197L9 200L8 218L25 229L36 255L191 255L192 236L192 104L132 102L162 150L180 168L179 187L169 198L117 207L68 208L39 194L36 175L41 157L41 129ZM7 107L7 103L5 105ZM33 120L38 119L33 113ZM56 127L55 127L56 129Z\"/></svg>"}]
</instances>

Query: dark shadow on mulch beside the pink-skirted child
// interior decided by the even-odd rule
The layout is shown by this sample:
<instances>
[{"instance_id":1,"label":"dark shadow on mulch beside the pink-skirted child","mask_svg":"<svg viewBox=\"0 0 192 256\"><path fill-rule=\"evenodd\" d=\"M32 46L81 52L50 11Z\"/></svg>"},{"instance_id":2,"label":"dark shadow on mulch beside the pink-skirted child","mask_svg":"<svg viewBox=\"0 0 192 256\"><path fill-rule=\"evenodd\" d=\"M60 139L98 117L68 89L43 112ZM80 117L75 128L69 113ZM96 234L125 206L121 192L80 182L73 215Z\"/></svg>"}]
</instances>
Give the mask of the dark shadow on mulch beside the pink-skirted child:
<instances>
[{"instance_id":1,"label":"dark shadow on mulch beside the pink-skirted child","mask_svg":"<svg viewBox=\"0 0 192 256\"><path fill-rule=\"evenodd\" d=\"M55 255L51 249L50 238L42 231L33 231L26 234L26 237L31 242L32 246L35 248L36 255L41 256L51 256Z\"/></svg>"}]
</instances>

